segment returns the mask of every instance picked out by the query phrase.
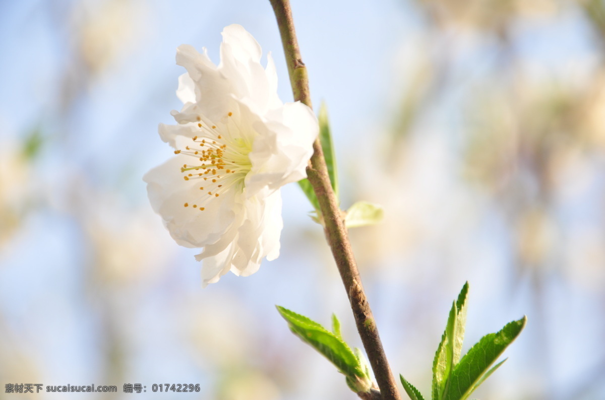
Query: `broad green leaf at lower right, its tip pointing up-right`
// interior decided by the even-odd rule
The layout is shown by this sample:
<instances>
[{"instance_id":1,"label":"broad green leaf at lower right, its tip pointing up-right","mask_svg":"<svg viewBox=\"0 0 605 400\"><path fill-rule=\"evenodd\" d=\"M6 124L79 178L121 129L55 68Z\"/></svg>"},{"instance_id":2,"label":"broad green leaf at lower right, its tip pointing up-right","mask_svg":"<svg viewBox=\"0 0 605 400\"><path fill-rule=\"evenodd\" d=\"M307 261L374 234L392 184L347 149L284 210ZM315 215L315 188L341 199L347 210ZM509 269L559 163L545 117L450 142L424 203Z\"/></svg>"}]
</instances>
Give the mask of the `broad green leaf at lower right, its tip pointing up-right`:
<instances>
[{"instance_id":1,"label":"broad green leaf at lower right, its tip pointing up-right","mask_svg":"<svg viewBox=\"0 0 605 400\"><path fill-rule=\"evenodd\" d=\"M445 400L467 399L473 393L473 390L477 389L480 382L487 378L487 376L484 379L482 377L491 374L495 370L494 368L486 373L489 366L517 338L525 327L526 321L526 317L518 321L512 321L499 332L485 335L479 343L471 347L451 373L450 379L448 379L449 387L443 398Z\"/></svg>"}]
</instances>

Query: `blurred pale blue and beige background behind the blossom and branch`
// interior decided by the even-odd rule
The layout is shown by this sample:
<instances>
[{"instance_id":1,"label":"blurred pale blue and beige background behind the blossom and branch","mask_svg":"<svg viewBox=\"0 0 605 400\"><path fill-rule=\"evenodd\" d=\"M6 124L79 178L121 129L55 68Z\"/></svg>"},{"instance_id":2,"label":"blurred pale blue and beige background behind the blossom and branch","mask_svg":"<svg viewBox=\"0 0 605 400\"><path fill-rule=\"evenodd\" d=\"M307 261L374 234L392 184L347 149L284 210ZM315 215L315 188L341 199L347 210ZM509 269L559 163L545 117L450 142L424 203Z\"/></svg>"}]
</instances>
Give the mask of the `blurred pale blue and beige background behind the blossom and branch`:
<instances>
[{"instance_id":1,"label":"blurred pale blue and beige background behind the blossom and branch","mask_svg":"<svg viewBox=\"0 0 605 400\"><path fill-rule=\"evenodd\" d=\"M474 397L605 399L605 1L292 7L342 207L384 206L351 235L393 372L428 395L469 280L465 349L529 318ZM291 101L268 1L0 2L0 399L356 398L274 308L324 324L335 312L361 347L296 185L282 191L281 256L206 289L146 197L143 173L172 154L157 124L181 106L175 48L218 63L233 23L273 52ZM119 393L5 394L11 383Z\"/></svg>"}]
</instances>

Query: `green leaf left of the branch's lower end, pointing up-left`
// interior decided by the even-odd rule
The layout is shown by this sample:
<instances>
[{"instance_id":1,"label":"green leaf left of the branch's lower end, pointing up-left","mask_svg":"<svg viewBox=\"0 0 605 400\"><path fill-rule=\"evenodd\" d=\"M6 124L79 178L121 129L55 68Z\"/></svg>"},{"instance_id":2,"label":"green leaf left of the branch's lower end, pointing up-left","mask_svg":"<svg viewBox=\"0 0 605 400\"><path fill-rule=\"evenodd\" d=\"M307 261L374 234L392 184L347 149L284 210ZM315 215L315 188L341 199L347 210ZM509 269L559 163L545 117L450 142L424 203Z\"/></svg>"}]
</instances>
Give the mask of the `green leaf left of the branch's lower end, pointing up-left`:
<instances>
[{"instance_id":1,"label":"green leaf left of the branch's lower end, pointing up-left","mask_svg":"<svg viewBox=\"0 0 605 400\"><path fill-rule=\"evenodd\" d=\"M353 383L359 381L359 378L362 381L367 378L359 359L341 338L327 331L315 321L304 317L304 315L296 314L280 306L276 307L281 316L288 322L293 334L324 355L338 368L339 372L344 373ZM347 379L347 382L349 383L349 379ZM371 381L369 383L371 386ZM356 389L356 392L362 391L359 390L359 385L356 386Z\"/></svg>"}]
</instances>

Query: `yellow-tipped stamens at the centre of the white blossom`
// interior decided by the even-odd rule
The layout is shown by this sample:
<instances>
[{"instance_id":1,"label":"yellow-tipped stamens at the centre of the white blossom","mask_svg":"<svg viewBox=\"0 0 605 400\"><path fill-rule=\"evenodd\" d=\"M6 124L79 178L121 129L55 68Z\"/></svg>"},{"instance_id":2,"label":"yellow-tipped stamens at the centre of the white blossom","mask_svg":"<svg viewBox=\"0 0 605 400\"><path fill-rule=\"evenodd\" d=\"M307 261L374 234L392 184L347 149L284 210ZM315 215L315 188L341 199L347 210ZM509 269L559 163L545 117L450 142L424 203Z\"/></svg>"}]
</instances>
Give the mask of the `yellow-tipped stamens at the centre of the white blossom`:
<instances>
[{"instance_id":1,"label":"yellow-tipped stamens at the centre of the white blossom","mask_svg":"<svg viewBox=\"0 0 605 400\"><path fill-rule=\"evenodd\" d=\"M200 135L194 136L185 149L175 150L175 154L195 159L183 164L181 173L185 181L195 182L200 190L200 195L194 196L191 203L188 201L183 207L191 206L204 211L208 201L227 190L243 190L244 178L252 169L248 157L252 143L246 140L232 115L229 112L226 123L220 124L220 127L198 116Z\"/></svg>"}]
</instances>

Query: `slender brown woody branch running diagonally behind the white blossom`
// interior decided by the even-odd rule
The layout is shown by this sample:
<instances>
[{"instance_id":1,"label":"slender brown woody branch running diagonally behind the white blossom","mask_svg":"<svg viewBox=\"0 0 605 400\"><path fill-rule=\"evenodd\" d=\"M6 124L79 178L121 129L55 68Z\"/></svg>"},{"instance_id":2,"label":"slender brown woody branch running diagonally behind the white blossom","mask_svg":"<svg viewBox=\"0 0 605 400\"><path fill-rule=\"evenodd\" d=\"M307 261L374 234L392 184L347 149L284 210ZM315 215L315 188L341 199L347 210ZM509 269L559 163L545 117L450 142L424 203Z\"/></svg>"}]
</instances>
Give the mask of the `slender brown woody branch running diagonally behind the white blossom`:
<instances>
[{"instance_id":1,"label":"slender brown woody branch running diagonally behind the white blossom","mask_svg":"<svg viewBox=\"0 0 605 400\"><path fill-rule=\"evenodd\" d=\"M312 107L307 68L302 62L298 48L290 1L269 1L273 6L277 24L280 28L281 41L284 45L294 100ZM396 381L388 365L387 356L382 348L382 342L378 335L378 328L376 327L370 304L365 296L364 287L361 284L361 277L359 276L355 257L348 240L342 211L330 184L330 176L328 175L319 138L313 143L313 150L310 165L307 166L307 176L319 201L319 207L324 218L325 236L336 260L342 283L344 283L347 291L359 336L364 344L368 360L370 360L378 387L381 390L382 399L401 400ZM359 396L367 398L365 394L362 395L360 393Z\"/></svg>"}]
</instances>

